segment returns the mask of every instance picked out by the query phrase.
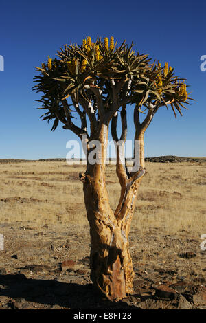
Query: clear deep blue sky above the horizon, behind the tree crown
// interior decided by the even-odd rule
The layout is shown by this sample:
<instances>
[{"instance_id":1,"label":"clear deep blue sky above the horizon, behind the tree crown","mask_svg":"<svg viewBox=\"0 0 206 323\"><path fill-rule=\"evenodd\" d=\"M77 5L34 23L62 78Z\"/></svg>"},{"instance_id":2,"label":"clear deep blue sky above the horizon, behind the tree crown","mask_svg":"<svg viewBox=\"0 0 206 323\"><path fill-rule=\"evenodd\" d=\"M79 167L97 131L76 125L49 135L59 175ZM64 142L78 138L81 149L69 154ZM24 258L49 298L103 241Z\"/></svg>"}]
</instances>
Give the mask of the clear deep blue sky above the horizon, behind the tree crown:
<instances>
[{"instance_id":1,"label":"clear deep blue sky above the horizon, behind the tree crown","mask_svg":"<svg viewBox=\"0 0 206 323\"><path fill-rule=\"evenodd\" d=\"M42 110L32 91L34 67L55 57L65 43L82 43L91 36L126 38L135 50L175 67L193 91L192 105L174 118L165 107L146 132L146 157L206 156L205 0L172 1L1 1L0 158L64 158L71 131L39 119ZM132 107L130 107L132 109ZM129 114L128 139L133 137Z\"/></svg>"}]
</instances>

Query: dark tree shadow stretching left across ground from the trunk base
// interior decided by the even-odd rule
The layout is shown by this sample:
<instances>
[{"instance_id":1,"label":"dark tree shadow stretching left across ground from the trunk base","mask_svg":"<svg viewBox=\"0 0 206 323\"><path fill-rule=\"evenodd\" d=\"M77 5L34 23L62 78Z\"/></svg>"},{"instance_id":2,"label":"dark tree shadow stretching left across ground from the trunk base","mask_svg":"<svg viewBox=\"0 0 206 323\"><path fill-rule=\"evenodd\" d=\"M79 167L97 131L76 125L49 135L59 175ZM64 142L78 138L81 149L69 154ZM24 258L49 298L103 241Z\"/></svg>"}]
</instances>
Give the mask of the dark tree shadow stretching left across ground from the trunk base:
<instances>
[{"instance_id":1,"label":"dark tree shadow stretching left across ground from the trunk base","mask_svg":"<svg viewBox=\"0 0 206 323\"><path fill-rule=\"evenodd\" d=\"M93 293L91 284L31 279L23 274L0 275L0 296L12 298L14 302L10 300L9 306L13 309L15 302L27 302L28 308L38 303L41 308L58 305L67 309L138 309L124 301L102 300Z\"/></svg>"}]
</instances>

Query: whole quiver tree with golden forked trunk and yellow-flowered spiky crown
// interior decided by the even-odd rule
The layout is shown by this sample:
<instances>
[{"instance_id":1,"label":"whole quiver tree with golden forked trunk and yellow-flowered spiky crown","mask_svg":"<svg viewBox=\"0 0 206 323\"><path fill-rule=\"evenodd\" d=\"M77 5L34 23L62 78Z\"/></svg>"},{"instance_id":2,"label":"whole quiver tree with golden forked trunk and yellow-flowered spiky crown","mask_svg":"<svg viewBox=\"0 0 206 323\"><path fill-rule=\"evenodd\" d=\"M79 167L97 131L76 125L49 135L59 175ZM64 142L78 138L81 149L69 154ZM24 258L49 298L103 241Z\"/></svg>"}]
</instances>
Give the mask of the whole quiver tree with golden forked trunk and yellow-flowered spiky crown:
<instances>
[{"instance_id":1,"label":"whole quiver tree with golden forked trunk and yellow-flowered spiky crown","mask_svg":"<svg viewBox=\"0 0 206 323\"><path fill-rule=\"evenodd\" d=\"M190 99L187 85L184 79L174 75L168 63L163 67L159 62L151 63L148 55L135 54L133 44L129 47L125 41L117 47L113 37L110 44L108 38L104 41L98 38L92 43L87 37L80 46L65 45L57 57L48 58L41 68L36 67L41 74L34 77L37 82L34 90L43 92L38 101L41 109L47 110L41 118L54 119L52 131L62 122L64 129L73 131L82 140L87 170L80 174L80 180L91 234L91 280L94 289L106 298L119 300L133 291L128 234L139 183L146 173L144 133L160 107L170 106L175 117L176 111L182 115L181 107L185 108L183 103L189 104ZM139 153L135 155L139 166L131 171L124 161L127 109L133 109L134 141L139 144ZM80 118L78 124L73 121L76 116ZM122 122L120 137L118 117ZM109 205L105 183L110 124L121 185L115 211ZM95 163L91 162L91 155L96 156Z\"/></svg>"}]
</instances>

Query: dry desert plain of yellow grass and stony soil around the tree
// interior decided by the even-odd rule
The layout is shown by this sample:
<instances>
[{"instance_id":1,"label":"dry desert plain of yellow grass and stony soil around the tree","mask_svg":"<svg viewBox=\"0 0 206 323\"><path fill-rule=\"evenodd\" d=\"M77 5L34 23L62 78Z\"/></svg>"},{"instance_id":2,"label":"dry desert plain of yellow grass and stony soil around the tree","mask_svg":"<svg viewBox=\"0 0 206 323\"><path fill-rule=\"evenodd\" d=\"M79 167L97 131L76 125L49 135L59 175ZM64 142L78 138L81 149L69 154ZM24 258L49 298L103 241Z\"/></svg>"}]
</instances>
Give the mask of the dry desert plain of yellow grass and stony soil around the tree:
<instances>
[{"instance_id":1,"label":"dry desert plain of yellow grass and stony soil around the tree","mask_svg":"<svg viewBox=\"0 0 206 323\"><path fill-rule=\"evenodd\" d=\"M1 160L0 309L206 309L206 162L146 161L130 231L134 293L119 302L93 294L84 169ZM115 210L120 186L106 170Z\"/></svg>"}]
</instances>

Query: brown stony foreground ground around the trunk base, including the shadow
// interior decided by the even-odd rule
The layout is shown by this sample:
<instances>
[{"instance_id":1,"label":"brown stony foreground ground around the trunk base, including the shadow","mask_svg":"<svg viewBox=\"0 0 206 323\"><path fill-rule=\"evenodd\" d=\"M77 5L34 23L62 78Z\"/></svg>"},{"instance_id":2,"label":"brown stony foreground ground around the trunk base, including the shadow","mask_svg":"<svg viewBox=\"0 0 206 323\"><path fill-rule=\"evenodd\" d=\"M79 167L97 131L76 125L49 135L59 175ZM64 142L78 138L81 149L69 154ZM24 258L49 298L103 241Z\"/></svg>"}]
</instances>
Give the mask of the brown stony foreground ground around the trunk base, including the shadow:
<instances>
[{"instance_id":1,"label":"brown stony foreground ground around the trunk base, including the shadow","mask_svg":"<svg viewBox=\"0 0 206 323\"><path fill-rule=\"evenodd\" d=\"M131 230L134 293L119 302L93 294L89 226L19 222L0 232L0 309L206 309L206 252L185 230Z\"/></svg>"}]
</instances>

